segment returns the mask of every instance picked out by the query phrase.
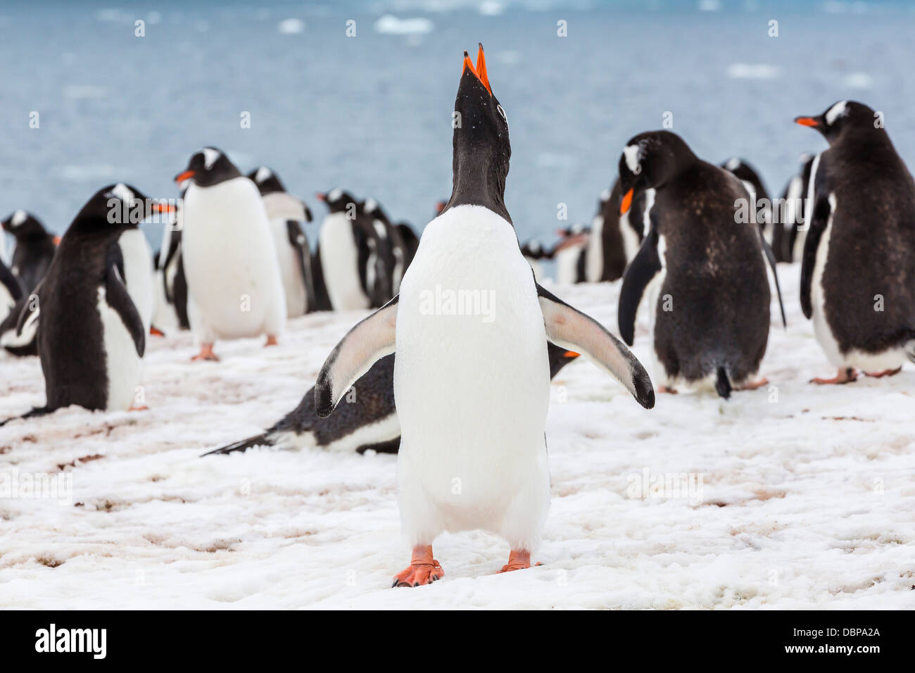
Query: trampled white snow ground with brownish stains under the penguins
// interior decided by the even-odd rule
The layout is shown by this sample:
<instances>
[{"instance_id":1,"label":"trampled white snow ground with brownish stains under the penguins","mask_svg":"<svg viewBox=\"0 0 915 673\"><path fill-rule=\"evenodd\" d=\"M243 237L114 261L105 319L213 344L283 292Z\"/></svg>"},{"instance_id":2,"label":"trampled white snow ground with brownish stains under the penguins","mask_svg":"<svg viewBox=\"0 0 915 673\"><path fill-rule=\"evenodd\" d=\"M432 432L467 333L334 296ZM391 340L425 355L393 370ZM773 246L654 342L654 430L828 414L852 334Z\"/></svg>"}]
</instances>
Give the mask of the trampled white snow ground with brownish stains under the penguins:
<instances>
[{"instance_id":1,"label":"trampled white snow ground with brownish stains under the penguins","mask_svg":"<svg viewBox=\"0 0 915 673\"><path fill-rule=\"evenodd\" d=\"M360 313L293 320L277 348L219 343L221 364L191 364L188 333L153 339L148 411L73 407L0 429L3 472L72 485L70 502L0 499L0 606L915 607L915 369L809 385L832 373L798 268L780 273L789 328L773 310L761 369L774 387L659 396L646 411L591 364L569 365L547 426L544 565L496 574L501 539L445 535L445 578L416 589L390 588L409 560L394 456L199 458L294 407ZM616 331L619 283L554 289ZM642 362L648 349L641 316ZM37 358L4 357L0 372L0 416L43 403ZM640 493L646 473L671 488ZM684 473L691 493L670 481Z\"/></svg>"}]
</instances>

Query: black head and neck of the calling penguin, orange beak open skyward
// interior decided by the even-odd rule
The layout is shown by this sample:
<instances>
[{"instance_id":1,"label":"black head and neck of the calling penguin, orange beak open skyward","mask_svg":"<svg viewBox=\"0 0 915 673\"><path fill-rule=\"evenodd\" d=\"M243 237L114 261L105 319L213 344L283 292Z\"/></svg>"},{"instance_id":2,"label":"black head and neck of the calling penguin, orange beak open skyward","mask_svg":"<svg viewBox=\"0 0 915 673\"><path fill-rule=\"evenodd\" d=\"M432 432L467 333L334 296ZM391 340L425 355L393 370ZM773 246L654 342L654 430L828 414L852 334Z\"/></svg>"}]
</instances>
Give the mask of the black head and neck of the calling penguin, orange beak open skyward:
<instances>
[{"instance_id":1,"label":"black head and neck of the calling penguin, orange beak open skyward","mask_svg":"<svg viewBox=\"0 0 915 673\"><path fill-rule=\"evenodd\" d=\"M509 122L492 93L482 44L476 65L464 52L452 126L453 187L442 212L458 205L481 205L511 222L505 208L505 179L511 159Z\"/></svg>"}]
</instances>

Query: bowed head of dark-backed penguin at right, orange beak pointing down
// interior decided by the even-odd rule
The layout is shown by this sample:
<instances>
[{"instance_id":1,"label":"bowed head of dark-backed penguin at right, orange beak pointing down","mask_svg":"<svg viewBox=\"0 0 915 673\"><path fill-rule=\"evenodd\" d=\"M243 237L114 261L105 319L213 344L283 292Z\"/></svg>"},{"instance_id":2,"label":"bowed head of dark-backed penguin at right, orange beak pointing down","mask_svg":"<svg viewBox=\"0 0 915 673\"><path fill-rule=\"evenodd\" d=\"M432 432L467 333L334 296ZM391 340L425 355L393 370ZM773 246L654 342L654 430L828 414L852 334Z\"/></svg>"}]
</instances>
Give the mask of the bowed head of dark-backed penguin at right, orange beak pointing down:
<instances>
[{"instance_id":1,"label":"bowed head of dark-backed penguin at right, orange beak pointing down","mask_svg":"<svg viewBox=\"0 0 915 673\"><path fill-rule=\"evenodd\" d=\"M634 136L619 157L619 214L644 190L657 189L696 160L683 138L670 131Z\"/></svg>"}]
</instances>

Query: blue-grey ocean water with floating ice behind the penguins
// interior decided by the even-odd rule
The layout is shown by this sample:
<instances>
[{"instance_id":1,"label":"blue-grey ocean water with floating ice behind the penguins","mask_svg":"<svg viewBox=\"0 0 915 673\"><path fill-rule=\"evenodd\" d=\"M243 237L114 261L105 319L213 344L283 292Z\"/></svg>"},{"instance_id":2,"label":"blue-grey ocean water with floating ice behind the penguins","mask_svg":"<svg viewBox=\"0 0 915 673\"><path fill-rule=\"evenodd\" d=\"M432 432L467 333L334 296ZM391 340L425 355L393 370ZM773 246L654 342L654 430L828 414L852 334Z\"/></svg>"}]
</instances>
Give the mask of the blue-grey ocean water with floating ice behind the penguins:
<instances>
[{"instance_id":1,"label":"blue-grey ocean water with floating ice behind the penguins","mask_svg":"<svg viewBox=\"0 0 915 673\"><path fill-rule=\"evenodd\" d=\"M273 167L318 220L313 192L341 186L419 229L450 193L450 115L479 40L522 240L589 221L626 140L666 113L699 156L746 157L771 192L825 147L792 117L845 98L883 112L915 161L911 3L5 2L0 30L0 211L58 233L108 182L177 196L203 145Z\"/></svg>"}]
</instances>

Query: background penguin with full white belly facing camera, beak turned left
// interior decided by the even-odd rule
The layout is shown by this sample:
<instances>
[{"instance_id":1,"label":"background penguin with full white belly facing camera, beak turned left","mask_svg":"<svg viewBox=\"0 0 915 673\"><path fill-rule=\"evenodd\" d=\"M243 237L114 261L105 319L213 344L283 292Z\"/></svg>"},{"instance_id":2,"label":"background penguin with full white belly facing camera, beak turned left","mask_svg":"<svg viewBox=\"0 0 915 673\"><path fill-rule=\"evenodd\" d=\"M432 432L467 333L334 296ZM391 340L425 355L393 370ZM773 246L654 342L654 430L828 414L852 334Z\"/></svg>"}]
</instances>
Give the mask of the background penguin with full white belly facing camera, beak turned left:
<instances>
[{"instance_id":1,"label":"background penguin with full white belly facing camera, beak turned left","mask_svg":"<svg viewBox=\"0 0 915 673\"><path fill-rule=\"evenodd\" d=\"M219 360L217 339L266 334L285 325L285 293L264 200L257 187L215 147L190 157L175 176L184 193L181 257L188 279L188 319L200 352Z\"/></svg>"}]
</instances>

